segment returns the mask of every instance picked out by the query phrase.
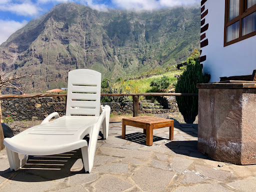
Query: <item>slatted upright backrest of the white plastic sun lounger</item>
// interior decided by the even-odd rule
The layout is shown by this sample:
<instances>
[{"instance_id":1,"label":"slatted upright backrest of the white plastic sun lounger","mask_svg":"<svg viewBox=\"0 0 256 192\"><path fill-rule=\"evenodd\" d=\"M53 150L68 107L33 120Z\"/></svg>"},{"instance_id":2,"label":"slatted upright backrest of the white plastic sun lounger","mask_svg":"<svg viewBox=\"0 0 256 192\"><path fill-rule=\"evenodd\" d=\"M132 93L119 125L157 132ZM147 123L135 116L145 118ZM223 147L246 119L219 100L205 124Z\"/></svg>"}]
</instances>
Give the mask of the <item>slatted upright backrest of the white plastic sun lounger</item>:
<instances>
[{"instance_id":1,"label":"slatted upright backrest of the white plastic sun lounger","mask_svg":"<svg viewBox=\"0 0 256 192\"><path fill-rule=\"evenodd\" d=\"M68 72L66 115L99 116L101 73L90 69Z\"/></svg>"}]
</instances>

